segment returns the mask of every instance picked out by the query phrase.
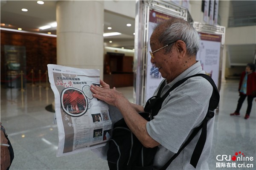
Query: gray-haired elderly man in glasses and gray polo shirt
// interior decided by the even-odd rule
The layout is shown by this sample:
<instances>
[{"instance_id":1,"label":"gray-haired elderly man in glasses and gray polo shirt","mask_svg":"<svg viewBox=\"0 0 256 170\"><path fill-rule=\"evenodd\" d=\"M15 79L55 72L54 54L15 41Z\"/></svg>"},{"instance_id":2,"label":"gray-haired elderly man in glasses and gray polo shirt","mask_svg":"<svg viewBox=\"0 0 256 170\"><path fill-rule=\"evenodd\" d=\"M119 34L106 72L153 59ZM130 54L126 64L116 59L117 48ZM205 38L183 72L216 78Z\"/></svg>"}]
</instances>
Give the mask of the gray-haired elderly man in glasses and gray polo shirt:
<instances>
[{"instance_id":1,"label":"gray-haired elderly man in glasses and gray polo shirt","mask_svg":"<svg viewBox=\"0 0 256 170\"><path fill-rule=\"evenodd\" d=\"M153 52L151 62L159 69L165 82L161 96L177 81L194 74L205 74L201 63L196 61L200 37L185 20L172 17L158 23L150 38ZM137 112L143 107L132 104L115 88L101 81L102 87L91 86L93 96L119 109L124 120L145 147L158 146L154 158L154 169L160 169L186 142L195 127L206 116L212 85L203 77L192 77L170 92L162 103L158 114L146 121ZM155 94L157 93L157 88ZM207 140L196 169L209 169L213 122L207 124ZM194 169L189 163L201 131L172 161L167 169Z\"/></svg>"}]
</instances>

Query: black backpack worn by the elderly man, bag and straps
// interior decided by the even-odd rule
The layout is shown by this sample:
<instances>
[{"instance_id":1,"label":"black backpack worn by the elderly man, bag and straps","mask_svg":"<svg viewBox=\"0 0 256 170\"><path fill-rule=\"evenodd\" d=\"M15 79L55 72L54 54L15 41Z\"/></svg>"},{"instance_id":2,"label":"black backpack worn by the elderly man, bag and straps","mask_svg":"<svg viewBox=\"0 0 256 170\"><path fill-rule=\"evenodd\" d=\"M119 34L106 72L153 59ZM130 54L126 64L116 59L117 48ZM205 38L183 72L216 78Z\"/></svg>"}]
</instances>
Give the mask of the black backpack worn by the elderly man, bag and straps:
<instances>
[{"instance_id":1,"label":"black backpack worn by the elderly man, bag and straps","mask_svg":"<svg viewBox=\"0 0 256 170\"><path fill-rule=\"evenodd\" d=\"M192 164L193 167L196 167L206 141L207 122L214 116L214 110L218 106L218 89L212 78L208 75L195 74L176 82L175 85L173 85L172 88L166 92L166 94L160 97L161 91L165 85L165 81L163 81L157 92L157 96L153 96L148 99L144 108L145 112L139 113L140 116L142 116L144 119L150 121L155 115L157 115L158 111L161 109L163 100L173 89L181 85L187 79L196 76L204 77L211 83L213 87L207 115L205 116L202 124L194 129L193 133L189 136L189 139L185 142L185 144L183 144L179 151L175 153L175 155L172 156L172 158L169 159L169 161L160 170L165 170L202 128L201 136L198 139L198 143L196 144L195 150L190 160L190 164ZM137 137L126 125L124 119L121 119L114 124L112 138L109 141L109 149L107 153L108 167L110 170L152 170L154 155L156 152L157 147L147 148L140 143Z\"/></svg>"}]
</instances>

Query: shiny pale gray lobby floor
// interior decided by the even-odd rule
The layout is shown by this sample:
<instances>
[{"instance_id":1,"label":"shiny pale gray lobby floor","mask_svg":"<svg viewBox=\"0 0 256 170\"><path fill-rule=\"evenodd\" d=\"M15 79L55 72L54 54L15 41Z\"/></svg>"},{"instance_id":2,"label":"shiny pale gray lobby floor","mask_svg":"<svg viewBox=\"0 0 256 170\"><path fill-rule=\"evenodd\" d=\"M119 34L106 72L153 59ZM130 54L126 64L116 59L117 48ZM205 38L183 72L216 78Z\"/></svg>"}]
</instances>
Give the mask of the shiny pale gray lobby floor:
<instances>
[{"instance_id":1,"label":"shiny pale gray lobby floor","mask_svg":"<svg viewBox=\"0 0 256 170\"><path fill-rule=\"evenodd\" d=\"M107 170L107 162L91 151L56 157L58 129L52 124L53 113L45 109L54 101L54 95L44 86L27 84L24 92L1 86L1 122L15 151L10 170ZM244 119L247 101L241 108L241 116L231 117L229 114L235 111L239 98L237 89L238 80L222 83L209 158L211 170L256 169L256 102L253 100L249 119ZM132 101L132 87L117 90ZM240 157L230 160L236 152L236 157L244 153L244 158L252 157L253 160L238 161Z\"/></svg>"}]
</instances>

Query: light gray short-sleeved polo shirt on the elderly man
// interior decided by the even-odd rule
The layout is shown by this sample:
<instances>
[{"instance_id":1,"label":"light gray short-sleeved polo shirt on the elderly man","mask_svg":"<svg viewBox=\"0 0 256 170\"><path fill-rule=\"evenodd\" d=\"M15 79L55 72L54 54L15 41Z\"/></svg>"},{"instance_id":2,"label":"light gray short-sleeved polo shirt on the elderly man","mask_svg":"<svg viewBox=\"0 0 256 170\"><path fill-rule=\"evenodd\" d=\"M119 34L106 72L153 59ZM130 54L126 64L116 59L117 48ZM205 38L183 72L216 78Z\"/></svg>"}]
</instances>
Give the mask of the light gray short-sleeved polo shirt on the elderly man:
<instances>
[{"instance_id":1,"label":"light gray short-sleeved polo shirt on the elderly man","mask_svg":"<svg viewBox=\"0 0 256 170\"><path fill-rule=\"evenodd\" d=\"M198 61L172 82L166 84L161 96L177 81L200 73L205 74L201 63ZM158 88L154 95L156 95ZM192 133L192 130L201 125L208 110L212 90L212 85L204 77L192 77L171 91L163 101L158 114L146 125L148 134L160 143L154 159L154 169L157 170L162 167L177 153ZM214 118L207 123L207 139L196 169L209 169L207 160L212 146L213 122ZM172 161L167 168L168 170L195 169L189 162L200 134L201 130L179 156Z\"/></svg>"}]
</instances>

